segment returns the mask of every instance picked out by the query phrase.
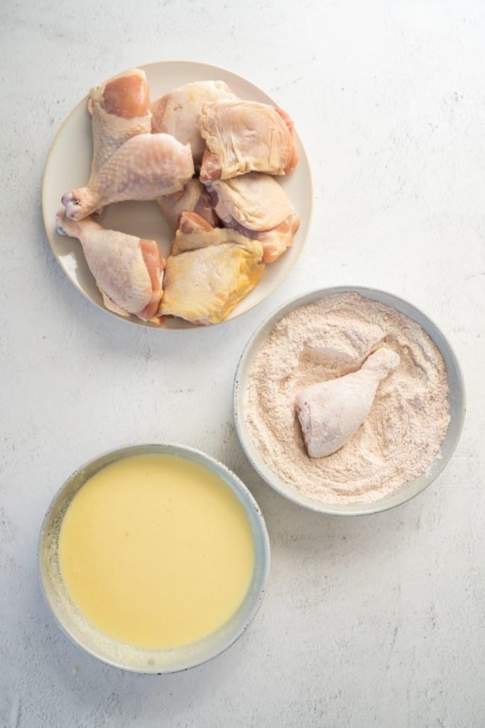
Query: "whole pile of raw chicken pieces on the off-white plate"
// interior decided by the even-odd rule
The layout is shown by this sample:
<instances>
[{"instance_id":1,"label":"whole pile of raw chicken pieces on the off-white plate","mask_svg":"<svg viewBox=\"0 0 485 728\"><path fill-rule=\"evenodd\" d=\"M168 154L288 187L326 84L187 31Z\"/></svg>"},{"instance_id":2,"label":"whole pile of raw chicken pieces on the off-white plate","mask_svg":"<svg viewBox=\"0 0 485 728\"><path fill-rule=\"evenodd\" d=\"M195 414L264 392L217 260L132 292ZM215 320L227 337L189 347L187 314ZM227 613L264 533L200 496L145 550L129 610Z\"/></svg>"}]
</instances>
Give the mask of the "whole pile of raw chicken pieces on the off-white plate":
<instances>
[{"instance_id":1,"label":"whole pile of raw chicken pieces on the off-white plate","mask_svg":"<svg viewBox=\"0 0 485 728\"><path fill-rule=\"evenodd\" d=\"M185 84L151 104L136 68L92 89L88 109L91 177L63 195L57 229L81 240L105 306L155 323L224 320L300 224L278 182L257 171L281 175L297 164L291 119L220 81ZM90 217L113 202L153 199L176 230L165 273L155 241Z\"/></svg>"}]
</instances>

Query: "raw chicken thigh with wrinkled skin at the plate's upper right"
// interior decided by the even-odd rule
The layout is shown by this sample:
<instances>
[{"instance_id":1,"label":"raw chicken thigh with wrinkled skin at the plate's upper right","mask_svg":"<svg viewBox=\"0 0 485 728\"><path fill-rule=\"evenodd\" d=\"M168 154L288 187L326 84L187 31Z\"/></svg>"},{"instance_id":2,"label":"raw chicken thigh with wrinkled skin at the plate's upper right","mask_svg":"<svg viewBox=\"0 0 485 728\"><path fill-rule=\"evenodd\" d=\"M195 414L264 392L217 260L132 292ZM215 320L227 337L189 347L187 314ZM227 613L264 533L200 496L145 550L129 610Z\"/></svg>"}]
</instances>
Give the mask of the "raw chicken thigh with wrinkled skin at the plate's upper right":
<instances>
[{"instance_id":1,"label":"raw chicken thigh with wrinkled skin at the plate's upper right","mask_svg":"<svg viewBox=\"0 0 485 728\"><path fill-rule=\"evenodd\" d=\"M297 165L293 123L280 108L241 100L207 103L199 127L207 145L204 183L252 171L284 175Z\"/></svg>"}]
</instances>

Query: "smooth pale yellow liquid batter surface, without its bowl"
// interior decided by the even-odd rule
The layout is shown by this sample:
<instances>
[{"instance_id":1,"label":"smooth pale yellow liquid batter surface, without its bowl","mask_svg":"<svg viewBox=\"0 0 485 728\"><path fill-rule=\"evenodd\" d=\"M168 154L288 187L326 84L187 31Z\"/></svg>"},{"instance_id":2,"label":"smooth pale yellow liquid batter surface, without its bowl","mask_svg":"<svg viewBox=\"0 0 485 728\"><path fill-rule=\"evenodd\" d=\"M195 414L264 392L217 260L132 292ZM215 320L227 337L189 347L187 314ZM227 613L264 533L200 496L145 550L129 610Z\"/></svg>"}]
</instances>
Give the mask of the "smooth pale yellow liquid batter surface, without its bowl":
<instances>
[{"instance_id":1,"label":"smooth pale yellow liquid batter surface, without its bowl","mask_svg":"<svg viewBox=\"0 0 485 728\"><path fill-rule=\"evenodd\" d=\"M82 486L63 519L59 561L74 604L105 634L174 647L236 612L254 542L244 507L217 475L147 454L110 464Z\"/></svg>"}]
</instances>

